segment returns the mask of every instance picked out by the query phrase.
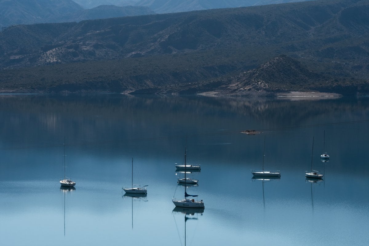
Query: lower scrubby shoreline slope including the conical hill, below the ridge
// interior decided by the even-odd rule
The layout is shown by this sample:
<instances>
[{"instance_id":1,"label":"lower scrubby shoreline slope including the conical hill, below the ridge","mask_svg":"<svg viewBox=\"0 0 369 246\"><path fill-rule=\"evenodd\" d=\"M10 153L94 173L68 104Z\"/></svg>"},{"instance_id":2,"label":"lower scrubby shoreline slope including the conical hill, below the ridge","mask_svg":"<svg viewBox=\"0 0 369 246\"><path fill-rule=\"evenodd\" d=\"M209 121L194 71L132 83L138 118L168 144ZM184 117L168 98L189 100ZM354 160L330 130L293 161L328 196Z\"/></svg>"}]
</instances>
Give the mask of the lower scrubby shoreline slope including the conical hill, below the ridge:
<instances>
[{"instance_id":1,"label":"lower scrubby shoreline slope including the conical hill, below the ridge","mask_svg":"<svg viewBox=\"0 0 369 246\"><path fill-rule=\"evenodd\" d=\"M275 96L289 91L320 91L343 95L369 94L366 80L338 80L315 73L284 55L235 76L229 76L235 69L230 62L218 61L212 66L199 66L199 63L192 64L190 58L165 56L160 65L154 65L145 72L137 67L142 63L154 64L154 57L7 69L0 73L0 93ZM180 68L180 65L185 68Z\"/></svg>"}]
</instances>

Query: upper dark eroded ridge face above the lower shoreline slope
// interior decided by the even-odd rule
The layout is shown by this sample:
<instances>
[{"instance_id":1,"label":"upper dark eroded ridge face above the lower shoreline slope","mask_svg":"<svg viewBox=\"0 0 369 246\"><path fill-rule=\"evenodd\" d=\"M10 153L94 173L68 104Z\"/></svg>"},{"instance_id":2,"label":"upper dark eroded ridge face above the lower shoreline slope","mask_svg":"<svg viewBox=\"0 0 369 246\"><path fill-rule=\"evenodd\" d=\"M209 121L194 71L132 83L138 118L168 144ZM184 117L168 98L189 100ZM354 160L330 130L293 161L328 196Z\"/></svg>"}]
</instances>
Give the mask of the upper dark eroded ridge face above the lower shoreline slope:
<instances>
[{"instance_id":1,"label":"upper dark eroded ridge face above the lower shoreline slope","mask_svg":"<svg viewBox=\"0 0 369 246\"><path fill-rule=\"evenodd\" d=\"M269 58L284 53L308 60L365 59L368 9L368 1L331 0L20 25L0 33L0 66L230 48L272 52Z\"/></svg>"}]
</instances>

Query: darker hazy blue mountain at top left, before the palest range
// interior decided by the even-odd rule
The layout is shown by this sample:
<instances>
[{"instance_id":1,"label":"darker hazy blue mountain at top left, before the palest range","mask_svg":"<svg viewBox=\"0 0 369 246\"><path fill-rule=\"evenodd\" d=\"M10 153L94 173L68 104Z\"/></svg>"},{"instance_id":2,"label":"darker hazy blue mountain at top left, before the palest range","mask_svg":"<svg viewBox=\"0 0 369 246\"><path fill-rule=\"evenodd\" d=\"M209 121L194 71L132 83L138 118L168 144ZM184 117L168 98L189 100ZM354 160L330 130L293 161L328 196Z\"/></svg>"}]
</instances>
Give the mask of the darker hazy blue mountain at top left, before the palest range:
<instances>
[{"instance_id":1,"label":"darker hazy blue mountain at top left, before the palest range","mask_svg":"<svg viewBox=\"0 0 369 246\"><path fill-rule=\"evenodd\" d=\"M0 26L72 22L155 14L144 6L98 6L84 10L72 0L0 0Z\"/></svg>"}]
</instances>

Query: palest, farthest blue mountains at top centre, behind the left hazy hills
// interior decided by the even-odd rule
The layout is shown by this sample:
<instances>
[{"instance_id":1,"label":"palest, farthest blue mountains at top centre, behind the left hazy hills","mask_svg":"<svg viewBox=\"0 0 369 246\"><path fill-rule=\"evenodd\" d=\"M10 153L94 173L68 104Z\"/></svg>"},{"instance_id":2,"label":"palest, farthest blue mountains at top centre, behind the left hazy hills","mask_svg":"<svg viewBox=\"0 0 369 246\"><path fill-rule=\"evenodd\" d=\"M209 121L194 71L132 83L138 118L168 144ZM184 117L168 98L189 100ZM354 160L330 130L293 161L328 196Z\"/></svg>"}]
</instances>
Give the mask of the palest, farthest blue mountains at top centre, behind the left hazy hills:
<instances>
[{"instance_id":1,"label":"palest, farthest blue mountains at top centre, behind the left hazy hills","mask_svg":"<svg viewBox=\"0 0 369 246\"><path fill-rule=\"evenodd\" d=\"M156 13L176 13L214 8L236 8L265 4L292 3L307 0L75 0L84 8L93 8L103 4L116 6L145 6Z\"/></svg>"}]
</instances>

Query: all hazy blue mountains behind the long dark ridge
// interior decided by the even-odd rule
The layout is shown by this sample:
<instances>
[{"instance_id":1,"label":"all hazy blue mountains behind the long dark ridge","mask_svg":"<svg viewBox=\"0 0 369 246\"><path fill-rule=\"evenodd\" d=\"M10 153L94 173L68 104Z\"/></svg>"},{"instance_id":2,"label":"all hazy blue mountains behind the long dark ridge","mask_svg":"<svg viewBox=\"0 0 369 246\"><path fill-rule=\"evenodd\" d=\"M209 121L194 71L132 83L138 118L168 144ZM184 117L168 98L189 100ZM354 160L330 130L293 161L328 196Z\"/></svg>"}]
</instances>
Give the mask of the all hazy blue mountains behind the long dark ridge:
<instances>
[{"instance_id":1,"label":"all hazy blue mountains behind the long dark ridge","mask_svg":"<svg viewBox=\"0 0 369 246\"><path fill-rule=\"evenodd\" d=\"M297 1L304 0L0 0L0 27Z\"/></svg>"}]
</instances>

